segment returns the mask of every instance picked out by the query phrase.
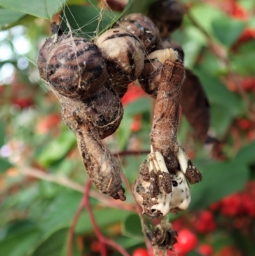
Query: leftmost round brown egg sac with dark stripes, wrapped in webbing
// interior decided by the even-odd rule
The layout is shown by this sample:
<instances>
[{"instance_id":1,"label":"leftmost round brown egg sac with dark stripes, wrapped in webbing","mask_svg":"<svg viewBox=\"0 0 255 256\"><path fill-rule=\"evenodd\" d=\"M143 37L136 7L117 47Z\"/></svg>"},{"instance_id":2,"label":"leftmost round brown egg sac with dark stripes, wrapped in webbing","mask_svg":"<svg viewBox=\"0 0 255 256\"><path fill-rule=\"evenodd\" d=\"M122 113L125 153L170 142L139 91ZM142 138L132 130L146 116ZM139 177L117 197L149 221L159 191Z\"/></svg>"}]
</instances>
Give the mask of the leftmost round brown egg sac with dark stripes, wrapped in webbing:
<instances>
[{"instance_id":1,"label":"leftmost round brown egg sac with dark stripes, wrapped in webbing","mask_svg":"<svg viewBox=\"0 0 255 256\"><path fill-rule=\"evenodd\" d=\"M98 47L71 34L45 42L38 57L38 69L41 79L70 98L85 99L98 93L107 77Z\"/></svg>"}]
</instances>

